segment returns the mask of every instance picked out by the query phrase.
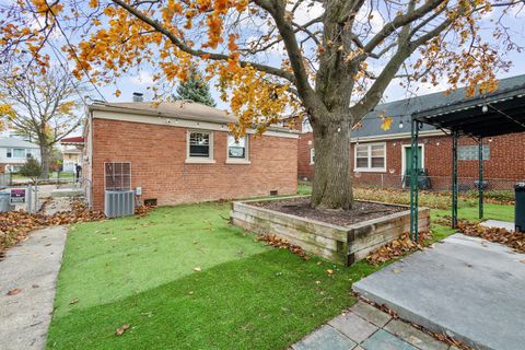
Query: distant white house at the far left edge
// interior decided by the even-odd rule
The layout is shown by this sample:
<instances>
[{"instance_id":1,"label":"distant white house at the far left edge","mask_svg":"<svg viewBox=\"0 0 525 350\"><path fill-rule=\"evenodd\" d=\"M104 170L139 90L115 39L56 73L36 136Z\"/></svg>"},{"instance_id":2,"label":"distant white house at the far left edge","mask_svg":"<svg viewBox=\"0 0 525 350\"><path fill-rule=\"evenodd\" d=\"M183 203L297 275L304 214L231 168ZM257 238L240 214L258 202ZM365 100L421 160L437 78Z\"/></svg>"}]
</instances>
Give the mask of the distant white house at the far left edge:
<instances>
[{"instance_id":1,"label":"distant white house at the far left edge","mask_svg":"<svg viewBox=\"0 0 525 350\"><path fill-rule=\"evenodd\" d=\"M18 172L30 156L40 161L38 144L14 137L0 138L0 173Z\"/></svg>"}]
</instances>

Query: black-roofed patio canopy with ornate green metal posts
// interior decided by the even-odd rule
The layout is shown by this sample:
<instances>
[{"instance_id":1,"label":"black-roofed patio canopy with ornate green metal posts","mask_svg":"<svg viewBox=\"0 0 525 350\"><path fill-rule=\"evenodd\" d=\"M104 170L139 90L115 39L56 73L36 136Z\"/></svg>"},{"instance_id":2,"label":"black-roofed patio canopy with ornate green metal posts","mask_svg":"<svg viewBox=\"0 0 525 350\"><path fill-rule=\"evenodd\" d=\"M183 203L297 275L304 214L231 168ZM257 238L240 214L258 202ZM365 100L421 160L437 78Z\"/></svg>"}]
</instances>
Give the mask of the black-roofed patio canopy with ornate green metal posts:
<instances>
[{"instance_id":1,"label":"black-roofed patio canopy with ornate green metal posts","mask_svg":"<svg viewBox=\"0 0 525 350\"><path fill-rule=\"evenodd\" d=\"M418 110L411 115L411 148L417 150L423 124L452 137L452 222L457 226L457 140L469 137L478 143L479 218L483 218L483 139L525 131L525 84L478 95L447 105ZM525 150L524 150L525 152ZM410 237L418 240L418 152L412 151L410 173Z\"/></svg>"}]
</instances>

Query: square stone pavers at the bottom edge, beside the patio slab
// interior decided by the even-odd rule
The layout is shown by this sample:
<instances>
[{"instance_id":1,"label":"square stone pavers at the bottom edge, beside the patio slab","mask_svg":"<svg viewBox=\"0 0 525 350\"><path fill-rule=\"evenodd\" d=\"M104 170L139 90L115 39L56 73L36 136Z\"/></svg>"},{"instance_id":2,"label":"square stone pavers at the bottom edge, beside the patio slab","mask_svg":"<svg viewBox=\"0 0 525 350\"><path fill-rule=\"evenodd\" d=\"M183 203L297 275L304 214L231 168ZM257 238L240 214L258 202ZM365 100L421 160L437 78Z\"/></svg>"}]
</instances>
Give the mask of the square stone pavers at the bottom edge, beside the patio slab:
<instances>
[{"instance_id":1,"label":"square stone pavers at the bottom edge, beside the patio slab","mask_svg":"<svg viewBox=\"0 0 525 350\"><path fill-rule=\"evenodd\" d=\"M457 350L359 301L292 346L293 350Z\"/></svg>"}]
</instances>

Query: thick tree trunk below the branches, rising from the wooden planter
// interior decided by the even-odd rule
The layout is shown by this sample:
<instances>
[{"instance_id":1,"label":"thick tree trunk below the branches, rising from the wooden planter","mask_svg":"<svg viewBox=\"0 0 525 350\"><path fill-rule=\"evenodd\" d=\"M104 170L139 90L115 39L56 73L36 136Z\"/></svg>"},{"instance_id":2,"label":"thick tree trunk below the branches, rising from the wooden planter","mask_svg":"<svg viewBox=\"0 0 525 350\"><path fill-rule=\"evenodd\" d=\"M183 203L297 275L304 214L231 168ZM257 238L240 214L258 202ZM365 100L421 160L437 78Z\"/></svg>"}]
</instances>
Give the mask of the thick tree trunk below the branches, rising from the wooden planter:
<instances>
[{"instance_id":1,"label":"thick tree trunk below the branches, rising from the wooden planter","mask_svg":"<svg viewBox=\"0 0 525 350\"><path fill-rule=\"evenodd\" d=\"M315 176L312 207L348 210L353 205L348 116L314 126Z\"/></svg>"}]
</instances>

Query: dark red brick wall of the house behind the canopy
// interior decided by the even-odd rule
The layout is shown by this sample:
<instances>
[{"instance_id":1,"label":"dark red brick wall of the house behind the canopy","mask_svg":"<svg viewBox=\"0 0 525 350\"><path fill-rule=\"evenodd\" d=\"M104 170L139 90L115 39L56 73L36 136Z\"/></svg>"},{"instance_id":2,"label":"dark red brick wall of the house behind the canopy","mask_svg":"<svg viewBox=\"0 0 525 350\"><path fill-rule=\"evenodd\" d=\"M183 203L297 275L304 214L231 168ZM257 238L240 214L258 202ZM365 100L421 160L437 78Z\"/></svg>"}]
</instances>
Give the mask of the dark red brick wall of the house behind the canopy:
<instances>
[{"instance_id":1,"label":"dark red brick wall of the house behind the canopy","mask_svg":"<svg viewBox=\"0 0 525 350\"><path fill-rule=\"evenodd\" d=\"M313 178L314 166L310 165L310 149L312 144L307 144L307 140L312 140L312 133L301 135L299 141L299 178ZM361 142L364 143L364 142ZM424 137L421 136L420 144L424 144L424 167L428 168L430 176L450 177L452 173L452 138L442 137ZM498 178L516 180L525 178L525 132L512 133L495 137L489 142L490 160L483 162L483 173L486 178ZM377 182L380 174L389 175L395 178L401 175L401 147L410 144L410 139L397 139L386 141L386 172L383 173L360 173L354 174L357 179L362 182ZM470 139L463 137L458 141L459 145L476 144ZM354 144L351 147L351 162L353 164ZM353 165L352 165L353 166ZM477 177L478 161L458 161L459 177ZM397 182L397 179L395 179Z\"/></svg>"}]
</instances>

